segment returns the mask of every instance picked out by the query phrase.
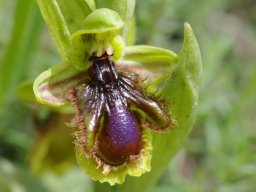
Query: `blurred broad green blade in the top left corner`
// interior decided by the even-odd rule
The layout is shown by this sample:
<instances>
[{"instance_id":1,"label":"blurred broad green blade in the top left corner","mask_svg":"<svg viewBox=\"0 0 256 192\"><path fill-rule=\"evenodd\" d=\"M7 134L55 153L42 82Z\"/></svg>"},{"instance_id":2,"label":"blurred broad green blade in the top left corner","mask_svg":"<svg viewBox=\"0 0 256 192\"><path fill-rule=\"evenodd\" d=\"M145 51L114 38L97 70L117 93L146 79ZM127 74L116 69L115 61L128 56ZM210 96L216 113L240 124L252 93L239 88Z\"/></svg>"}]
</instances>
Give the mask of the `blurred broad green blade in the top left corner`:
<instances>
[{"instance_id":1,"label":"blurred broad green blade in the top left corner","mask_svg":"<svg viewBox=\"0 0 256 192\"><path fill-rule=\"evenodd\" d=\"M0 66L0 110L13 98L15 86L24 78L42 26L41 14L33 0L18 1L10 43ZM29 39L29 40L28 40Z\"/></svg>"}]
</instances>

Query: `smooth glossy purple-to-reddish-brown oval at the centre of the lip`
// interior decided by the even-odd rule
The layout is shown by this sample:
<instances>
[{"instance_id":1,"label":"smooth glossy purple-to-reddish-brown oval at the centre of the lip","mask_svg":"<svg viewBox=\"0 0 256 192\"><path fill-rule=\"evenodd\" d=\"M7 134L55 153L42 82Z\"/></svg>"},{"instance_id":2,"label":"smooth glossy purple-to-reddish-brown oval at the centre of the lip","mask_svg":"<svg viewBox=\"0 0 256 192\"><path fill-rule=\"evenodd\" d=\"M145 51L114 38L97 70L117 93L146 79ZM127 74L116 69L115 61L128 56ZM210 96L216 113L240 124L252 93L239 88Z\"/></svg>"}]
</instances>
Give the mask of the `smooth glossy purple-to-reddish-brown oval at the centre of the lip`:
<instances>
[{"instance_id":1,"label":"smooth glossy purple-to-reddish-brown oval at the centre of the lip","mask_svg":"<svg viewBox=\"0 0 256 192\"><path fill-rule=\"evenodd\" d=\"M137 119L125 106L113 106L104 116L99 151L104 161L123 164L141 148L141 129Z\"/></svg>"}]
</instances>

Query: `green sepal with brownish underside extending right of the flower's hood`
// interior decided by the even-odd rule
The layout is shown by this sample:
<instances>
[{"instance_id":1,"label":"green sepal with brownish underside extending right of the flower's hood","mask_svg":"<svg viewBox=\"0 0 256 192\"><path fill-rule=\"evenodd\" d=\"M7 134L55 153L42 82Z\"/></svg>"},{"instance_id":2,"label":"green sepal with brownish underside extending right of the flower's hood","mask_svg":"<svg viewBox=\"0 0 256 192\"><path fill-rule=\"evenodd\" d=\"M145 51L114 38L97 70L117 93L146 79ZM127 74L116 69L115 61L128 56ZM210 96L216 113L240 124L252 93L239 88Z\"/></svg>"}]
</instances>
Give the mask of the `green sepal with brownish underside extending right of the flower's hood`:
<instances>
[{"instance_id":1,"label":"green sepal with brownish underside extending right of the flower's hood","mask_svg":"<svg viewBox=\"0 0 256 192\"><path fill-rule=\"evenodd\" d=\"M133 71L153 84L162 77L170 77L178 60L175 53L166 49L144 45L127 46L124 56L117 62L117 68Z\"/></svg>"}]
</instances>

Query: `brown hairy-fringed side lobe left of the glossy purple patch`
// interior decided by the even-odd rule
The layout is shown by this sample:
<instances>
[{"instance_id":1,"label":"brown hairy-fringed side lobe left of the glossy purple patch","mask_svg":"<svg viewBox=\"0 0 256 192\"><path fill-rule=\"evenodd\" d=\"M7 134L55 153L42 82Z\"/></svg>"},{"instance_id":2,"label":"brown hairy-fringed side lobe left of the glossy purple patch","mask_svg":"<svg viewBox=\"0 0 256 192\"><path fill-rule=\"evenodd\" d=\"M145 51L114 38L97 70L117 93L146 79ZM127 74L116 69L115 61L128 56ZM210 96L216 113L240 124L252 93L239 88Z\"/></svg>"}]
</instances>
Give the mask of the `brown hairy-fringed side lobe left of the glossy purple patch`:
<instances>
[{"instance_id":1,"label":"brown hairy-fringed side lobe left of the glossy purple patch","mask_svg":"<svg viewBox=\"0 0 256 192\"><path fill-rule=\"evenodd\" d=\"M77 127L75 142L83 146L86 155L90 155L95 144L105 101L101 99L101 95L95 93L95 90L85 84L72 89L68 100L76 112L76 116L70 124L72 127Z\"/></svg>"}]
</instances>

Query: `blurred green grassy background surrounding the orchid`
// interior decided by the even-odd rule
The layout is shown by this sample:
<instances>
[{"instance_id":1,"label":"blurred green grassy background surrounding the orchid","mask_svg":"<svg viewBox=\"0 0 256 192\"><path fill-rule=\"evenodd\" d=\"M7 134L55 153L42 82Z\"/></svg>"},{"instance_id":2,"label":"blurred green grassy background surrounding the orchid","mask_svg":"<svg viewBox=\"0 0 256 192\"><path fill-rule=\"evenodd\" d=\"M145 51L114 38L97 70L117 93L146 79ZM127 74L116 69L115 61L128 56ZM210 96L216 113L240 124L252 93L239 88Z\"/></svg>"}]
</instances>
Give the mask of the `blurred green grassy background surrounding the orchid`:
<instances>
[{"instance_id":1,"label":"blurred green grassy background surrounding the orchid","mask_svg":"<svg viewBox=\"0 0 256 192\"><path fill-rule=\"evenodd\" d=\"M256 191L256 1L140 0L136 21L137 44L175 52L188 21L204 64L193 131L154 191ZM44 172L32 152L70 119L16 96L21 82L61 62L34 0L0 0L0 25L0 191L93 191L71 166L72 150Z\"/></svg>"}]
</instances>

